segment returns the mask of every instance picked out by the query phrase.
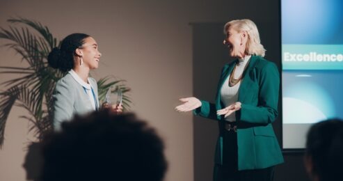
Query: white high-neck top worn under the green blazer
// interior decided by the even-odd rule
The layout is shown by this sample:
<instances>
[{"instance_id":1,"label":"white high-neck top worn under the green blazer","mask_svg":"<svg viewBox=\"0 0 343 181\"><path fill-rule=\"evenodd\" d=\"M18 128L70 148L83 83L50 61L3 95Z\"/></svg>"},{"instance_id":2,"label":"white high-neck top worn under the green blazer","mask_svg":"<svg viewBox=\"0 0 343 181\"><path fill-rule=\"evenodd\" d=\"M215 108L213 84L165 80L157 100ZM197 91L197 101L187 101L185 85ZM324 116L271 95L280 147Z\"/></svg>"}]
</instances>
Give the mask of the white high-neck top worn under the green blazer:
<instances>
[{"instance_id":1,"label":"white high-neck top worn under the green blazer","mask_svg":"<svg viewBox=\"0 0 343 181\"><path fill-rule=\"evenodd\" d=\"M241 74L243 74L244 68L246 67L246 63L248 63L250 57L251 56L249 55L244 58L239 58L239 62L237 64L236 70L234 70L234 79L239 79L239 77L241 77ZM228 78L225 79L224 84L221 87L221 101L223 102L225 107L228 107L230 106L230 104L237 102L239 86L241 85L241 81L239 81L236 85L230 87L229 86L230 76L232 76L232 72L228 76ZM225 120L229 122L236 121L236 114L235 113L230 114L230 116L226 117Z\"/></svg>"}]
</instances>

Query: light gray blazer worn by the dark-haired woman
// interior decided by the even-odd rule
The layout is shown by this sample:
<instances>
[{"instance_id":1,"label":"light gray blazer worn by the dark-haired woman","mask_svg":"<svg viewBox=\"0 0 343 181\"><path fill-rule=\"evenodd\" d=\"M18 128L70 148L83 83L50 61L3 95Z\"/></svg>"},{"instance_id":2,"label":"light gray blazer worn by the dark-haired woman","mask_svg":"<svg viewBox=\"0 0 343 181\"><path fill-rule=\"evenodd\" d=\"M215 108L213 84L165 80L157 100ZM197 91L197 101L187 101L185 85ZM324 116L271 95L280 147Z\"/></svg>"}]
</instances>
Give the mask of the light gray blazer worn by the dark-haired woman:
<instances>
[{"instance_id":1,"label":"light gray blazer worn by the dark-haired woman","mask_svg":"<svg viewBox=\"0 0 343 181\"><path fill-rule=\"evenodd\" d=\"M99 97L97 95L97 81L90 78L99 108ZM70 121L75 114L83 115L94 111L89 97L83 86L81 86L71 74L58 80L54 91L54 129L60 130L63 121Z\"/></svg>"}]
</instances>

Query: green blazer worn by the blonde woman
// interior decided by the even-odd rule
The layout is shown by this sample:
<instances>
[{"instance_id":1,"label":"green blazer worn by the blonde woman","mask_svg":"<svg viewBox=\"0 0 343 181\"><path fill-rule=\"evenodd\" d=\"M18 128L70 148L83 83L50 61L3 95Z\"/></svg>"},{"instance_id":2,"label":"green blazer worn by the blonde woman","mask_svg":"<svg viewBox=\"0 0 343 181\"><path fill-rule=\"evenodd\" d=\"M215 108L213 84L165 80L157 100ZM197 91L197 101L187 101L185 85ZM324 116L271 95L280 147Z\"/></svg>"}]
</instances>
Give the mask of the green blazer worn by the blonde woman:
<instances>
[{"instance_id":1,"label":"green blazer worn by the blonde woman","mask_svg":"<svg viewBox=\"0 0 343 181\"><path fill-rule=\"evenodd\" d=\"M219 136L216 144L215 163L223 161L223 132L225 120L216 111L223 109L221 87L238 60L224 66L219 80L216 104L201 100L202 106L193 113L218 120ZM239 87L238 101L241 109L236 111L238 169L267 168L283 162L282 152L271 123L278 116L280 75L276 65L261 56L251 56Z\"/></svg>"}]
</instances>

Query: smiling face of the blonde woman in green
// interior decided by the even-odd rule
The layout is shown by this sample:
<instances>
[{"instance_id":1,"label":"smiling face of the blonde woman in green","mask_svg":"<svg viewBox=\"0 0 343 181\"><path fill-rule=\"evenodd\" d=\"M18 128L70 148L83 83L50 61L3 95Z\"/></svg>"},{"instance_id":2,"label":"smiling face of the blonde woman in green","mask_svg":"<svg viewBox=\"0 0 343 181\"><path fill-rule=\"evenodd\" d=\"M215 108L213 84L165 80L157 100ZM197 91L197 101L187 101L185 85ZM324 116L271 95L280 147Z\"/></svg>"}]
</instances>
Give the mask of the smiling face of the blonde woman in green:
<instances>
[{"instance_id":1,"label":"smiling face of the blonde woman in green","mask_svg":"<svg viewBox=\"0 0 343 181\"><path fill-rule=\"evenodd\" d=\"M236 31L231 26L226 31L224 45L229 48L230 56L234 58L244 58L246 56L247 33L245 31Z\"/></svg>"}]
</instances>

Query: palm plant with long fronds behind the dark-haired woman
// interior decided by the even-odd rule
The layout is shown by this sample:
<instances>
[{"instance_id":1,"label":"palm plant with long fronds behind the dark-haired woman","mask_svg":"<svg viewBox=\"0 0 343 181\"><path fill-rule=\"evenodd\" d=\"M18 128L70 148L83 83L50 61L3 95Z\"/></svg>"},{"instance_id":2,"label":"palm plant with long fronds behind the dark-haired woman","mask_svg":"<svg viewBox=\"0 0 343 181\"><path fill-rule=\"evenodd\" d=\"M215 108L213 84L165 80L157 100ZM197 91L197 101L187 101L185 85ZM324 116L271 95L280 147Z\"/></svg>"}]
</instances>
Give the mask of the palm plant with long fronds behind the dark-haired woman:
<instances>
[{"instance_id":1,"label":"palm plant with long fronds behind the dark-haired woman","mask_svg":"<svg viewBox=\"0 0 343 181\"><path fill-rule=\"evenodd\" d=\"M5 91L0 92L0 148L3 145L6 121L14 106L29 111L29 116L21 116L31 122L29 131L34 132L38 140L52 129L52 94L56 81L65 73L50 68L47 56L51 49L61 44L54 38L47 26L30 19L8 19L8 29L0 28L0 39L6 40L2 47L13 49L29 63L28 67L0 67L0 74L16 74L19 77L3 81L0 84ZM129 109L131 100L127 95L129 88L124 80L104 77L97 81L99 100L104 100L111 86L120 86L123 93L123 108Z\"/></svg>"}]
</instances>

